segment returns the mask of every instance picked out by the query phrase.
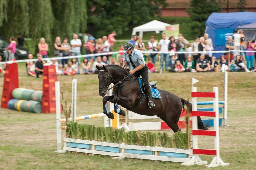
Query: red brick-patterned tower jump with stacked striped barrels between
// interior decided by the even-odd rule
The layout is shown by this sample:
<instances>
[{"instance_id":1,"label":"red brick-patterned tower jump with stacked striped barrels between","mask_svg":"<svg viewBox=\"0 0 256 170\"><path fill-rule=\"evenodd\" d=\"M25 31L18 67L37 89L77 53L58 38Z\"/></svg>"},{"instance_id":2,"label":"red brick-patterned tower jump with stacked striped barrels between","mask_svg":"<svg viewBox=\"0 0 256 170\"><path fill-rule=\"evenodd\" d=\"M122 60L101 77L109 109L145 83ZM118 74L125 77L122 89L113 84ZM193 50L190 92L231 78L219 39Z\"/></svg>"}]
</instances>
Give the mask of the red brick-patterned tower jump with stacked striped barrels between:
<instances>
[{"instance_id":1,"label":"red brick-patterned tower jump with stacked striped barrels between","mask_svg":"<svg viewBox=\"0 0 256 170\"><path fill-rule=\"evenodd\" d=\"M43 91L19 88L18 64L8 61L5 66L1 107L35 113L55 113L55 66L43 66ZM16 98L16 99L15 99Z\"/></svg>"}]
</instances>

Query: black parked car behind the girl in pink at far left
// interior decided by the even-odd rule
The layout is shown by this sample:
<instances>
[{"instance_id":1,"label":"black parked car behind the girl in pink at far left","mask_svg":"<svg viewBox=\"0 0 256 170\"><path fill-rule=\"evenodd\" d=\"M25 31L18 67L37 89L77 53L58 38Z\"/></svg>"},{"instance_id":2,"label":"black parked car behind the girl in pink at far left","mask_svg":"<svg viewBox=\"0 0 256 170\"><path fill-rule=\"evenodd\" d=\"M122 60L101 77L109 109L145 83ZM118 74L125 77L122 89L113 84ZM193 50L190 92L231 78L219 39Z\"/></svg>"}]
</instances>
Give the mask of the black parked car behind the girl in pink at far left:
<instances>
[{"instance_id":1,"label":"black parked car behind the girl in pink at far left","mask_svg":"<svg viewBox=\"0 0 256 170\"><path fill-rule=\"evenodd\" d=\"M5 60L5 49L9 46L10 43L7 43L3 37L0 37L0 55L2 56L2 61ZM28 53L30 53L29 50L25 49L24 47L21 47L19 45L16 46L16 52L14 54L16 60L19 59L27 59Z\"/></svg>"}]
</instances>

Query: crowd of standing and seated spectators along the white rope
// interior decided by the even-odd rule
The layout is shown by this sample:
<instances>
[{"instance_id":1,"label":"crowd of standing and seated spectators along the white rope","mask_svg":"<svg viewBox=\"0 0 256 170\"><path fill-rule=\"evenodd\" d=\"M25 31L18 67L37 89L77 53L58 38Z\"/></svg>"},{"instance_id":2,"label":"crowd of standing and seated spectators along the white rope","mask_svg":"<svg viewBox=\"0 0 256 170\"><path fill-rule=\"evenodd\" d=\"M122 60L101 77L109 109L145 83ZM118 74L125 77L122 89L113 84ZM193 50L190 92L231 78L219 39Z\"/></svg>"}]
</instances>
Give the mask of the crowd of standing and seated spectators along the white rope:
<instances>
[{"instance_id":1,"label":"crowd of standing and seated spectators along the white rope","mask_svg":"<svg viewBox=\"0 0 256 170\"><path fill-rule=\"evenodd\" d=\"M86 54L96 54L102 52L113 51L114 43L116 43L116 32L113 31L108 36L103 36L95 41L94 37L89 37L88 42L84 44L86 48ZM204 34L202 37L196 37L194 42L189 43L182 34L179 34L178 38L175 39L174 36L166 37L165 34L162 35L162 39L157 41L154 36L150 36L148 42L143 42L142 37L137 35L132 35L131 40L129 40L134 45L134 48L140 51L147 51L143 53L143 57L147 62L149 73L162 73L163 70L169 72L219 72L219 71L256 71L253 67L254 56L256 58L256 53L254 52L232 52L221 55L220 61L216 60L216 57L212 55L213 45L212 39L209 38L208 34ZM18 35L19 45L23 45L24 39ZM235 30L233 37L228 36L228 41L226 42L226 50L256 50L255 40L247 39L243 31L240 30L239 33ZM16 39L10 37L10 45L6 50L10 50L10 59L14 58L16 48ZM81 55L82 41L78 39L77 34L73 35L73 39L68 41L68 38L61 38L57 36L54 42L54 57L67 57L67 56L79 56ZM48 58L48 44L42 37L38 43L39 53L36 55L38 61L27 62L26 68L28 75L33 77L39 77L43 73L43 64L45 61L43 58ZM52 60L52 64L56 66L56 73L58 75L74 75L74 74L97 74L99 71L96 66L105 66L108 64L122 66L124 52L123 45L119 46L119 59L118 62L116 58L111 57L112 55L99 55L99 56L89 56L83 58L82 62L77 60L76 57L61 60ZM160 54L150 53L151 51L160 51ZM181 53L175 54L176 51ZM188 51L187 53L182 53ZM200 51L205 51L200 53ZM195 53L196 52L196 53ZM32 59L33 55L28 54L28 59ZM0 61L1 61L0 57ZM156 67L156 61L160 60L160 69ZM244 63L246 61L246 64ZM129 68L129 65L127 66ZM2 65L0 65L0 75L4 72Z\"/></svg>"}]
</instances>

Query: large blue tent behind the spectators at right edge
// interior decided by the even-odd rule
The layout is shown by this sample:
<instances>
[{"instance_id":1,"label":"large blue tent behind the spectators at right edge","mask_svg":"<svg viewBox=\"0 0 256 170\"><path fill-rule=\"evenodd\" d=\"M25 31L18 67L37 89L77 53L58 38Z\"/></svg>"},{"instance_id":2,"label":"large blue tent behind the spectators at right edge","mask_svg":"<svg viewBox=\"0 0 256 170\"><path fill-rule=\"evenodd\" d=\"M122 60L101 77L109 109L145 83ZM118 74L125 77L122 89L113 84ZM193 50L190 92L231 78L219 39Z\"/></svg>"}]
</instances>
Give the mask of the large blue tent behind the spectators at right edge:
<instances>
[{"instance_id":1,"label":"large blue tent behind the spectators at right edge","mask_svg":"<svg viewBox=\"0 0 256 170\"><path fill-rule=\"evenodd\" d=\"M205 23L205 32L212 39L214 51L225 50L227 37L233 35L238 26L256 22L256 12L213 12ZM214 56L220 57L222 53L215 53Z\"/></svg>"}]
</instances>

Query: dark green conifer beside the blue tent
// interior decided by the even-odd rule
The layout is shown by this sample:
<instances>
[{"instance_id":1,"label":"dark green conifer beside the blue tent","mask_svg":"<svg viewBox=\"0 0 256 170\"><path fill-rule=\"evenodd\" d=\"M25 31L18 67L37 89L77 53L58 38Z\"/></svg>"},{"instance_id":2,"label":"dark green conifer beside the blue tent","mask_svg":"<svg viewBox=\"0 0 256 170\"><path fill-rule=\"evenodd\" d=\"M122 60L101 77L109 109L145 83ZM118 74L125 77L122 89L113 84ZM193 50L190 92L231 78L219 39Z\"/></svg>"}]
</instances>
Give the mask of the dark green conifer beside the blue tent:
<instances>
[{"instance_id":1,"label":"dark green conifer beside the blue tent","mask_svg":"<svg viewBox=\"0 0 256 170\"><path fill-rule=\"evenodd\" d=\"M190 0L188 13L191 18L191 30L195 37L204 34L205 21L212 12L220 12L221 8L216 0Z\"/></svg>"}]
</instances>

